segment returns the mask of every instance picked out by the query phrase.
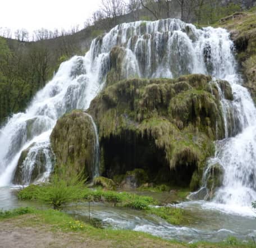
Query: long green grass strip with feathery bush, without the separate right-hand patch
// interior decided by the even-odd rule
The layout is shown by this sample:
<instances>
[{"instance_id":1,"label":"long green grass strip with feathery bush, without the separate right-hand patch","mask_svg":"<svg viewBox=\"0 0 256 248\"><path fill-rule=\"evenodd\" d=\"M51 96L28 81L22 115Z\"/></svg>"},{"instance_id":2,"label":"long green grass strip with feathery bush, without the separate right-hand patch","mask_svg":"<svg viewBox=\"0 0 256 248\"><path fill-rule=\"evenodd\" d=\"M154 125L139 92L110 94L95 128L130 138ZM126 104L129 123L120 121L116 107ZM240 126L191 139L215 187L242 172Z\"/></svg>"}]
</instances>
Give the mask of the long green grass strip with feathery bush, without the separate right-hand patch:
<instances>
[{"instance_id":1,"label":"long green grass strip with feathery bush, without the separate right-hand patch","mask_svg":"<svg viewBox=\"0 0 256 248\"><path fill-rule=\"evenodd\" d=\"M133 209L148 209L149 205L158 202L149 196L140 196L127 192L92 190L81 185L66 185L64 182L45 185L30 185L18 193L21 200L37 200L51 204L54 209L73 201L103 201L115 205L127 206Z\"/></svg>"}]
</instances>

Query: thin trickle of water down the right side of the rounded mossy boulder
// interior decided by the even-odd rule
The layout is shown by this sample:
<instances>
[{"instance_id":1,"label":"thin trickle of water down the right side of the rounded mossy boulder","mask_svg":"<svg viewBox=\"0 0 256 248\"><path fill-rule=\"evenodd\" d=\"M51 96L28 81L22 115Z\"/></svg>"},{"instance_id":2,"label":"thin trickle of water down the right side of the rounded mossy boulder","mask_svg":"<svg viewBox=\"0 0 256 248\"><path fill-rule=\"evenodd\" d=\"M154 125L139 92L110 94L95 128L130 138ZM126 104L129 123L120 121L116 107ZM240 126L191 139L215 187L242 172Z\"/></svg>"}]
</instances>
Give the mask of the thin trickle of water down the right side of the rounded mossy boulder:
<instances>
[{"instance_id":1,"label":"thin trickle of water down the right side of the rounded mossy boulder","mask_svg":"<svg viewBox=\"0 0 256 248\"><path fill-rule=\"evenodd\" d=\"M93 162L92 162L92 172L93 172L93 178L99 176L99 135L97 126L93 120L93 117L90 116L90 114L85 113L86 116L90 118L90 121L93 125L93 132L94 132L94 150L93 150Z\"/></svg>"}]
</instances>

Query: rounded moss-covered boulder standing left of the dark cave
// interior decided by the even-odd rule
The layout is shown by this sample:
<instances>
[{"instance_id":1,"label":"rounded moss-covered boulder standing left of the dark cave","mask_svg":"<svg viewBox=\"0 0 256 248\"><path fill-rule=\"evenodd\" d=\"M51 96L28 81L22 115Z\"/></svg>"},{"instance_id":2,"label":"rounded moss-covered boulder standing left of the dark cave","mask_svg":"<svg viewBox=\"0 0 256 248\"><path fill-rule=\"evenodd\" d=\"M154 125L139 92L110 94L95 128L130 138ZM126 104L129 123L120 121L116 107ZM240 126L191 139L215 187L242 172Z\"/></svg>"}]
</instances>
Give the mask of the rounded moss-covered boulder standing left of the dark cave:
<instances>
[{"instance_id":1,"label":"rounded moss-covered boulder standing left of the dark cave","mask_svg":"<svg viewBox=\"0 0 256 248\"><path fill-rule=\"evenodd\" d=\"M92 176L94 129L83 111L72 111L57 121L51 134L51 146L56 155L56 168L68 174Z\"/></svg>"}]
</instances>

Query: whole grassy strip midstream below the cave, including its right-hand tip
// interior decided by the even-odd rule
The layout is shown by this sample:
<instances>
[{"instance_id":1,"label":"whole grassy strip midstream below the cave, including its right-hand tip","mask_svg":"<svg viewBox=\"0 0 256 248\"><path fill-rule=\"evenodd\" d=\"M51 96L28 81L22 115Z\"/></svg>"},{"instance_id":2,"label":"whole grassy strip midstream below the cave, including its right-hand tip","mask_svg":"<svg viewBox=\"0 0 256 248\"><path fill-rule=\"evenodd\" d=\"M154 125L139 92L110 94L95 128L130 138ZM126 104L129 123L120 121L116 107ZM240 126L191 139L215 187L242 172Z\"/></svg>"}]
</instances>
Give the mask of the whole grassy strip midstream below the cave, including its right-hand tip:
<instances>
[{"instance_id":1,"label":"whole grassy strip midstream below the cave, including its right-hand tip","mask_svg":"<svg viewBox=\"0 0 256 248\"><path fill-rule=\"evenodd\" d=\"M89 189L81 185L64 186L63 183L30 185L19 191L18 197L21 200L42 201L44 204L53 206L54 209L61 209L63 205L74 201L103 202L117 208L122 206L156 215L170 224L179 225L185 221L184 210L165 206L155 208L154 206L159 205L159 202L152 197L127 192Z\"/></svg>"}]
</instances>

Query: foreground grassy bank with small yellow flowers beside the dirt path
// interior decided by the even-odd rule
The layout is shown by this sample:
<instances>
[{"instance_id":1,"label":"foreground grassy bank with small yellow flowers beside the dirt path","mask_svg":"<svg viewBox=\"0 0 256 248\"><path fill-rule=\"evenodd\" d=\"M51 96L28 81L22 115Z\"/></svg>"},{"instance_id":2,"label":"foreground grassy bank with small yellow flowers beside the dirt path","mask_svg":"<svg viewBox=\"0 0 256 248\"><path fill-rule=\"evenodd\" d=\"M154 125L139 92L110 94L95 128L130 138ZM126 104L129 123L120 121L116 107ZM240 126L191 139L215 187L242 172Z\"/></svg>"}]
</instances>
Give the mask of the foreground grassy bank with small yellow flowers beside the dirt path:
<instances>
[{"instance_id":1,"label":"foreground grassy bank with small yellow flowers beside the dirt path","mask_svg":"<svg viewBox=\"0 0 256 248\"><path fill-rule=\"evenodd\" d=\"M185 244L162 240L141 232L99 229L84 222L76 221L69 215L53 209L20 208L8 212L0 212L0 222L2 227L0 234L7 227L16 227L16 233L19 230L25 231L27 228L33 228L38 235L47 230L47 232L56 233L57 238L63 237L63 239L75 245L79 237L80 246L86 242L86 244L93 244L90 247L255 247L253 244L243 244L235 238L228 238L226 242L214 244L207 242Z\"/></svg>"}]
</instances>

